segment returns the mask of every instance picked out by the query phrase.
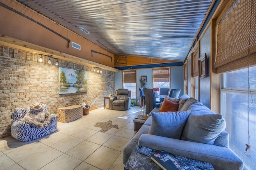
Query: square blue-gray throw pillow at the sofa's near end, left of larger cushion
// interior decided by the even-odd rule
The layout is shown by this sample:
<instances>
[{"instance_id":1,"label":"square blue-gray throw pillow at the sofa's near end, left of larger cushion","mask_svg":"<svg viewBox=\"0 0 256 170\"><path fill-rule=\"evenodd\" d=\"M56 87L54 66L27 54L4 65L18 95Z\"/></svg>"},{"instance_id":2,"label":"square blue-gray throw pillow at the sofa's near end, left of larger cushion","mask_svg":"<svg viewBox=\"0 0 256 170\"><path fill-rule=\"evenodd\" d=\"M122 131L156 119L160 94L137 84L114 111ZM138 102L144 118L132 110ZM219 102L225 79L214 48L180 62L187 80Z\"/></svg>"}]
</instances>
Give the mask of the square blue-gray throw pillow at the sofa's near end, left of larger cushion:
<instances>
[{"instance_id":1,"label":"square blue-gray throw pillow at the sofa's near end, left of larger cushion","mask_svg":"<svg viewBox=\"0 0 256 170\"><path fill-rule=\"evenodd\" d=\"M190 111L152 112L152 122L148 134L180 139L189 113Z\"/></svg>"}]
</instances>

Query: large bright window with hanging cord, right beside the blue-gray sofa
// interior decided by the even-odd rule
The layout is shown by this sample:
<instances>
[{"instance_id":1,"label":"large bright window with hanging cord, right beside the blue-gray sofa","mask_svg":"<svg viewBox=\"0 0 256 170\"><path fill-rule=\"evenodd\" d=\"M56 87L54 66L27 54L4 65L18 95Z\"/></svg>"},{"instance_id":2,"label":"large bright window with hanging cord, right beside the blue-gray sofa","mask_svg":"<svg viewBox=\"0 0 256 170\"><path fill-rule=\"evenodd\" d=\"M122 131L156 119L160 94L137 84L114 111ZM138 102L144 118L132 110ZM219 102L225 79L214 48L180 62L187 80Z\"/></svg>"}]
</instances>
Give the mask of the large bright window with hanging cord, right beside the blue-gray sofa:
<instances>
[{"instance_id":1,"label":"large bright window with hanging cord, right beside the blue-gray sofa","mask_svg":"<svg viewBox=\"0 0 256 170\"><path fill-rule=\"evenodd\" d=\"M248 82L251 93L248 92ZM253 102L253 103L252 103ZM252 103L249 107L248 103ZM221 113L226 120L230 149L244 162L245 168L256 166L256 66L222 74ZM249 117L249 118L248 118ZM248 138L248 132L250 138ZM248 142L250 139L250 143ZM251 157L245 156L246 144L251 146Z\"/></svg>"}]
</instances>

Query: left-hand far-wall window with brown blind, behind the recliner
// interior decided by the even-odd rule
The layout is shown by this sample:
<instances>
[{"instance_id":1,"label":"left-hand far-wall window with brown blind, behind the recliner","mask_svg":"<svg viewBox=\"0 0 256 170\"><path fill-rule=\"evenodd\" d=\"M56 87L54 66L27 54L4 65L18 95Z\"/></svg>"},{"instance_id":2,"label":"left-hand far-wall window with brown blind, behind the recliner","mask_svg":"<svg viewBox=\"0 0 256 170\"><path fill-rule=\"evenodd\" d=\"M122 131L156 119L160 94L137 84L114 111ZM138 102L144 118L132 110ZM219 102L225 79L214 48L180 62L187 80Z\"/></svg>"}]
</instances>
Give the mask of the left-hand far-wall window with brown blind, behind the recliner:
<instances>
[{"instance_id":1,"label":"left-hand far-wall window with brown blind, behind the recliner","mask_svg":"<svg viewBox=\"0 0 256 170\"><path fill-rule=\"evenodd\" d=\"M136 99L136 70L125 70L123 80L123 87L131 90L131 98Z\"/></svg>"}]
</instances>

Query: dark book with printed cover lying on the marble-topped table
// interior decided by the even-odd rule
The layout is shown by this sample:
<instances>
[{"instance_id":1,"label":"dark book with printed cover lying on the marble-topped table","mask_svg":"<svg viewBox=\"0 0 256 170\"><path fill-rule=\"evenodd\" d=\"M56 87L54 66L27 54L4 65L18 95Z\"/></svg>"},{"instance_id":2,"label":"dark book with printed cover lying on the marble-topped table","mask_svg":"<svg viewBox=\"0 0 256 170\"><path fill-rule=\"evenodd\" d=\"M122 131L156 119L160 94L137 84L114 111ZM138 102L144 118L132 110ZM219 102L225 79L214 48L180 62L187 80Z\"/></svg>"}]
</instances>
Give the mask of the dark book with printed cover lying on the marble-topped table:
<instances>
[{"instance_id":1,"label":"dark book with printed cover lying on the marble-topped table","mask_svg":"<svg viewBox=\"0 0 256 170\"><path fill-rule=\"evenodd\" d=\"M163 150L157 151L150 156L163 170L190 170L190 167L178 160L173 154Z\"/></svg>"}]
</instances>

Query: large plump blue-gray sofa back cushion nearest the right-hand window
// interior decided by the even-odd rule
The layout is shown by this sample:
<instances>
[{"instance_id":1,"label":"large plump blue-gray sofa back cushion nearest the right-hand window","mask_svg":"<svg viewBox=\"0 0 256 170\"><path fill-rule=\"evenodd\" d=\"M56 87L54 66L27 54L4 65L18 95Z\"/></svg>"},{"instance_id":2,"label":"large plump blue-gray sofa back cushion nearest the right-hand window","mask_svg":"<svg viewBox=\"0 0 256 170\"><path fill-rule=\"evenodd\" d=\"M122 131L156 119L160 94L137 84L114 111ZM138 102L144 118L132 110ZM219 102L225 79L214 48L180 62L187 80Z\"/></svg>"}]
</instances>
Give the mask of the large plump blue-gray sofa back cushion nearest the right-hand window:
<instances>
[{"instance_id":1,"label":"large plump blue-gray sofa back cushion nearest the right-hand window","mask_svg":"<svg viewBox=\"0 0 256 170\"><path fill-rule=\"evenodd\" d=\"M191 112L181 139L213 145L218 135L226 128L226 121L222 115L214 113L200 102L192 104L188 110Z\"/></svg>"}]
</instances>

